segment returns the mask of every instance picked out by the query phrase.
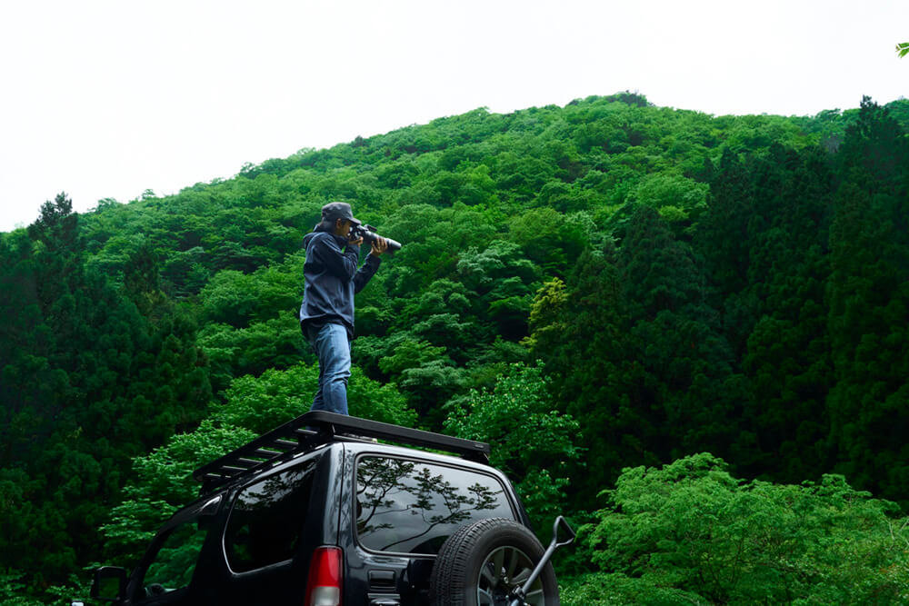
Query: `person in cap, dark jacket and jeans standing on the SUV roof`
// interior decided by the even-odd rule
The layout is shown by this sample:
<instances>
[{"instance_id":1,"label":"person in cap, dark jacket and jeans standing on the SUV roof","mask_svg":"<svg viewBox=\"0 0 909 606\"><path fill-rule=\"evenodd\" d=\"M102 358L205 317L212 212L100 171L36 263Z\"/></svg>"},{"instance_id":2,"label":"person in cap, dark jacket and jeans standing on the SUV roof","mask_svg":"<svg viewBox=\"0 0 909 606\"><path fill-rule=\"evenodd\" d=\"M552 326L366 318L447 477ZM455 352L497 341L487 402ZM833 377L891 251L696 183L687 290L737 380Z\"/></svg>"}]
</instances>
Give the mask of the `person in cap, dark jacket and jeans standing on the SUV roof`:
<instances>
[{"instance_id":1,"label":"person in cap, dark jacket and jeans standing on the SUV roof","mask_svg":"<svg viewBox=\"0 0 909 606\"><path fill-rule=\"evenodd\" d=\"M354 295L373 277L379 257L388 248L385 238L378 238L357 269L363 238L351 240L348 235L359 224L350 204L333 202L322 207L322 223L303 238L306 262L300 328L319 358L319 390L311 411L347 414Z\"/></svg>"}]
</instances>

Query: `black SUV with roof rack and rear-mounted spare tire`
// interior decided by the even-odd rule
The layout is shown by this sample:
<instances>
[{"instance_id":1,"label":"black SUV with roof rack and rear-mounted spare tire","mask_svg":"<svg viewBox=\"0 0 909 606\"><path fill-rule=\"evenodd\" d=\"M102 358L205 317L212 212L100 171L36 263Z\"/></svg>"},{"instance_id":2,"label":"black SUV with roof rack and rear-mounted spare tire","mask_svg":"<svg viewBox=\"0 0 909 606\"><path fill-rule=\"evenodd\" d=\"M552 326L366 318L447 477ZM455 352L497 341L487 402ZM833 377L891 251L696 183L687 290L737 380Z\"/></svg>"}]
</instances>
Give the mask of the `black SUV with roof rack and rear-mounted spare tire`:
<instances>
[{"instance_id":1,"label":"black SUV with roof rack and rear-mounted spare tire","mask_svg":"<svg viewBox=\"0 0 909 606\"><path fill-rule=\"evenodd\" d=\"M548 560L574 533L565 524L571 538L557 542L560 518L544 551L488 454L483 442L308 412L196 470L202 496L165 523L131 574L95 571L92 597L557 605Z\"/></svg>"}]
</instances>

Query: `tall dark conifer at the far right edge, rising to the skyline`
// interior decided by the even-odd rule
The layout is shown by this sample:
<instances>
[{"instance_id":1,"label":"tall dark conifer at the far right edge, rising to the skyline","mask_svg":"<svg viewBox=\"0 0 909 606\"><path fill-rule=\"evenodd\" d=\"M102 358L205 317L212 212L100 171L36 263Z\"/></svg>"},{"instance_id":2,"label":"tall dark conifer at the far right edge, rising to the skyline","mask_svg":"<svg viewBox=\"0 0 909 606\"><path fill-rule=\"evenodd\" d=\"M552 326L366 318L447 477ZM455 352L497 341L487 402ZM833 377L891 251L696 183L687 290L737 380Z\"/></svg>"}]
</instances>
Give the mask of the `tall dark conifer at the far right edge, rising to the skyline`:
<instances>
[{"instance_id":1,"label":"tall dark conifer at the far right edge, rising to the skyline","mask_svg":"<svg viewBox=\"0 0 909 606\"><path fill-rule=\"evenodd\" d=\"M909 465L909 144L865 98L841 149L844 181L830 229L828 326L835 384L827 407L837 470L905 499Z\"/></svg>"}]
</instances>

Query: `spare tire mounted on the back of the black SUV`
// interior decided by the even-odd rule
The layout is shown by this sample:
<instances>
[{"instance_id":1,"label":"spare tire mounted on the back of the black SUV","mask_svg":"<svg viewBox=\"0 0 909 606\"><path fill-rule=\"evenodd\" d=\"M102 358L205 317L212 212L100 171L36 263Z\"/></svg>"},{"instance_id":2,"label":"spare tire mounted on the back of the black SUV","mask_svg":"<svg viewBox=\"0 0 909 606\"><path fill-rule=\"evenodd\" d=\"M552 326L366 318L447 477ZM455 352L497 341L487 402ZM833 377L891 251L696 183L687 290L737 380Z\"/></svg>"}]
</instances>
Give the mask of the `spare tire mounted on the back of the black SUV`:
<instances>
[{"instance_id":1,"label":"spare tire mounted on the back of the black SUV","mask_svg":"<svg viewBox=\"0 0 909 606\"><path fill-rule=\"evenodd\" d=\"M521 587L544 554L543 545L524 525L489 518L464 526L439 550L429 581L433 606L492 606ZM527 591L525 604L558 606L559 587L552 562Z\"/></svg>"}]
</instances>

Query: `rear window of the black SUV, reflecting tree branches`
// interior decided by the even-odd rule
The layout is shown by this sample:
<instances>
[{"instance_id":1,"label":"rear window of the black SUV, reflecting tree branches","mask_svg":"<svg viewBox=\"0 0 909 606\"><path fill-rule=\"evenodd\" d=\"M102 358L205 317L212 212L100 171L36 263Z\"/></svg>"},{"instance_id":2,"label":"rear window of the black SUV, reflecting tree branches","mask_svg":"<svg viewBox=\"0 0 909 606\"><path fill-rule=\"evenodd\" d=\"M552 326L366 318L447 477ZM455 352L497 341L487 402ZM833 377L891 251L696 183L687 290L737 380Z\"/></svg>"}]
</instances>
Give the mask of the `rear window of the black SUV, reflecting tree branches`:
<instances>
[{"instance_id":1,"label":"rear window of the black SUV, reflecting tree branches","mask_svg":"<svg viewBox=\"0 0 909 606\"><path fill-rule=\"evenodd\" d=\"M360 544L401 553L435 554L464 524L514 520L504 487L494 476L377 456L357 462L356 510Z\"/></svg>"}]
</instances>

